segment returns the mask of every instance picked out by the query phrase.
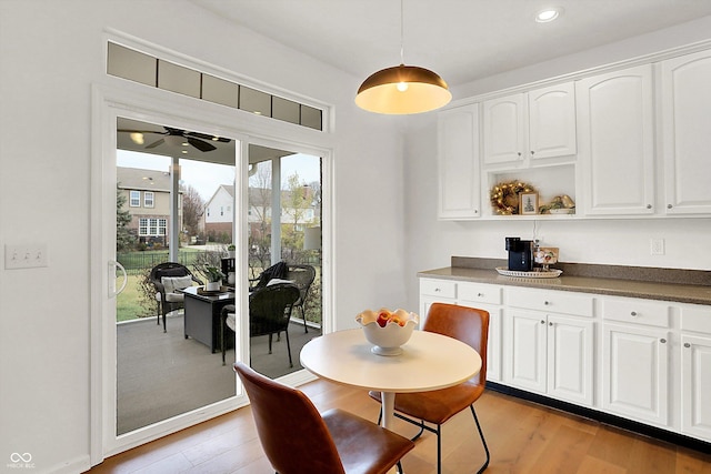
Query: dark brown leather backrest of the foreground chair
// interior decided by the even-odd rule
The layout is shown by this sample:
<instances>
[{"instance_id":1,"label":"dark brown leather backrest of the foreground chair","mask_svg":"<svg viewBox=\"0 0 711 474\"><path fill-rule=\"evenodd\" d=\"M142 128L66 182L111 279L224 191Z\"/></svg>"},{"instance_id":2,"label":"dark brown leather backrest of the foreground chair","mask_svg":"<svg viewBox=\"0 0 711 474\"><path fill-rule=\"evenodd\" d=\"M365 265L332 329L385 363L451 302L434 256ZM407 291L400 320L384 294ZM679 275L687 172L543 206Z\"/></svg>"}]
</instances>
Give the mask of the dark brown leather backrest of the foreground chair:
<instances>
[{"instance_id":1,"label":"dark brown leather backrest of the foreground chair","mask_svg":"<svg viewBox=\"0 0 711 474\"><path fill-rule=\"evenodd\" d=\"M234 364L251 402L257 433L279 473L343 474L343 464L323 418L300 391ZM367 448L367 446L363 446Z\"/></svg>"}]
</instances>

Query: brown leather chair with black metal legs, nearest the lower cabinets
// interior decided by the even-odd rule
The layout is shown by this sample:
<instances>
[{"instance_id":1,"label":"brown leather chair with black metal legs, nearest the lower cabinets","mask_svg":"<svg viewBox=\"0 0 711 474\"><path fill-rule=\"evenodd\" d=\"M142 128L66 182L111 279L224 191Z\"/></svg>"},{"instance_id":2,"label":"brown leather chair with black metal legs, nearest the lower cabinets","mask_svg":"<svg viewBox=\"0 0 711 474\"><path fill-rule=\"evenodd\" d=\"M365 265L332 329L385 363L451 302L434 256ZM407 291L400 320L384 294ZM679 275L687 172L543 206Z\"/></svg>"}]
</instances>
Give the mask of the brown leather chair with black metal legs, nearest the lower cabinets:
<instances>
[{"instance_id":1,"label":"brown leather chair with black metal legs, nearest the lower cabinets","mask_svg":"<svg viewBox=\"0 0 711 474\"><path fill-rule=\"evenodd\" d=\"M481 371L469 381L449 389L432 392L398 393L395 395L394 415L405 422L420 427L420 432L412 438L417 440L427 430L437 435L437 472L442 472L442 425L459 412L471 410L477 423L479 437L483 444L487 460L479 468L483 472L489 465L490 455L483 431L479 424L473 403L484 392L487 383L487 340L489 334L489 313L473 307L454 304L433 303L424 321L423 331L431 331L458 339L471 345L481 355ZM453 364L457 361L452 361ZM380 392L369 395L381 402ZM432 427L430 425L434 425Z\"/></svg>"}]
</instances>

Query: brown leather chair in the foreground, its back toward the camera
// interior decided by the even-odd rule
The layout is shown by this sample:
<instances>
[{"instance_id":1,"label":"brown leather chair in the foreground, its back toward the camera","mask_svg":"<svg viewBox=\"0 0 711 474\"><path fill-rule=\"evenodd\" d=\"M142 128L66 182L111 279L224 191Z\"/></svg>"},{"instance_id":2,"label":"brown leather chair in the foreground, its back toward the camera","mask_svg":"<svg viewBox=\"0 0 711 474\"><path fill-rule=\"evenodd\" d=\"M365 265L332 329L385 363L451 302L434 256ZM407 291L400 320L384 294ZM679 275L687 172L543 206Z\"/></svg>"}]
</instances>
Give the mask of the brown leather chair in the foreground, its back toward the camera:
<instances>
[{"instance_id":1,"label":"brown leather chair in the foreground, its back toward the camera","mask_svg":"<svg viewBox=\"0 0 711 474\"><path fill-rule=\"evenodd\" d=\"M414 443L343 410L321 415L299 390L234 364L251 402L257 433L277 473L382 474Z\"/></svg>"}]
</instances>

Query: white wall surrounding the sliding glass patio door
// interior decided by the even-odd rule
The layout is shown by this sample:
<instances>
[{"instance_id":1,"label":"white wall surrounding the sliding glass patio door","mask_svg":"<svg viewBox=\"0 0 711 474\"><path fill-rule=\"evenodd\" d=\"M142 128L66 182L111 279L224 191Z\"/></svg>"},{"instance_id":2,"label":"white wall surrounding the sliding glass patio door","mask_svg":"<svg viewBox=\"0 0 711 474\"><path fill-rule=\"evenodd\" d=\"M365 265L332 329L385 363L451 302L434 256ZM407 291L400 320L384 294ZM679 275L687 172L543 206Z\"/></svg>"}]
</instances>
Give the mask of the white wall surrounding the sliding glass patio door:
<instances>
[{"instance_id":1,"label":"white wall surrounding the sliding glass patio door","mask_svg":"<svg viewBox=\"0 0 711 474\"><path fill-rule=\"evenodd\" d=\"M16 452L38 473L89 460L91 84L122 84L104 74L107 28L334 104L337 325L405 300L401 141L397 120L356 108L359 78L184 0L0 1L0 248L49 255L4 270L0 252L0 471Z\"/></svg>"}]
</instances>

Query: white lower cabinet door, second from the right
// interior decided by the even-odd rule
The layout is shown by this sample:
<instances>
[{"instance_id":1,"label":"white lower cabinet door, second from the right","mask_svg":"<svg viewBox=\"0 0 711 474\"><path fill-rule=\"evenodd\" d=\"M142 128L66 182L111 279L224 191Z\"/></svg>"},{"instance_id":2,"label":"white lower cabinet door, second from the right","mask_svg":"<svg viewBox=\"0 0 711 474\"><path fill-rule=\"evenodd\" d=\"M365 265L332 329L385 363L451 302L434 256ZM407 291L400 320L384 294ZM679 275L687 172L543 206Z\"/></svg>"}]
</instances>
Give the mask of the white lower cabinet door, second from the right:
<instances>
[{"instance_id":1,"label":"white lower cabinet door, second from the right","mask_svg":"<svg viewBox=\"0 0 711 474\"><path fill-rule=\"evenodd\" d=\"M602 407L665 426L668 423L669 332L633 325L603 325Z\"/></svg>"}]
</instances>

